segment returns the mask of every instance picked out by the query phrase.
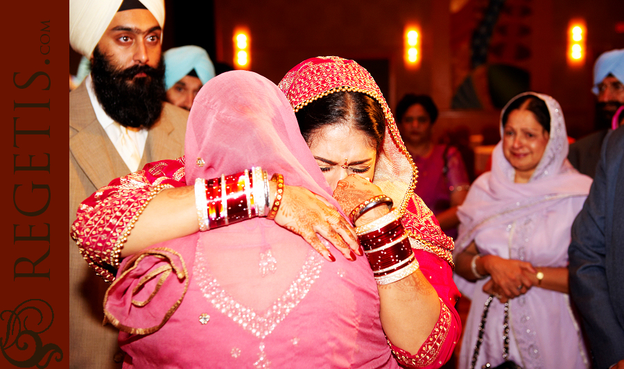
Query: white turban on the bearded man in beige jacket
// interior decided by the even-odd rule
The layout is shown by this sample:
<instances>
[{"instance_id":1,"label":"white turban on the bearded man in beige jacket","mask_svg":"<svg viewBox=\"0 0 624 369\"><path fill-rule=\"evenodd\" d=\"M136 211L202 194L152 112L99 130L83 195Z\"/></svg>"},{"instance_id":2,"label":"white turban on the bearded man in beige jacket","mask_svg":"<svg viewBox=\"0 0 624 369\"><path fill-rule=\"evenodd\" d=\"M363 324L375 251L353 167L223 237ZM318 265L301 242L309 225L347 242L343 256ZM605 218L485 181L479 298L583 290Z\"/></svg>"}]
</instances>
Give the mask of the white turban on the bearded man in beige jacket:
<instances>
[{"instance_id":1,"label":"white turban on the bearded man in beige jacket","mask_svg":"<svg viewBox=\"0 0 624 369\"><path fill-rule=\"evenodd\" d=\"M164 27L164 0L139 0ZM123 0L69 0L69 44L91 58ZM162 38L161 38L162 42Z\"/></svg>"}]
</instances>

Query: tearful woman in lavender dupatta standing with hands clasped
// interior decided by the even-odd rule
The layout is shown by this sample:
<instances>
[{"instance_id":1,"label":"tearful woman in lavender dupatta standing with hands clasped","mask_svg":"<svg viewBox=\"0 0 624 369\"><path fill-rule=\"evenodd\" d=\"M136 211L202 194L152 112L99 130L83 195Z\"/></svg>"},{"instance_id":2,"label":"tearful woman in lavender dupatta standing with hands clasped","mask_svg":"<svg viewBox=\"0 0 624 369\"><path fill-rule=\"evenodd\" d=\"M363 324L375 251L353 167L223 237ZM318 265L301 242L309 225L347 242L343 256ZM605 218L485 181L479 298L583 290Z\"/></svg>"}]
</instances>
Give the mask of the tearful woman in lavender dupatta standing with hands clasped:
<instances>
[{"instance_id":1,"label":"tearful woman in lavender dupatta standing with hands clasped","mask_svg":"<svg viewBox=\"0 0 624 369\"><path fill-rule=\"evenodd\" d=\"M509 303L509 359L524 369L587 368L587 350L568 295L572 222L591 179L566 159L559 103L528 92L501 114L492 171L472 184L459 207L453 253L456 284L472 300L459 368L469 368L485 300L492 294L474 368L504 361L503 302Z\"/></svg>"}]
</instances>

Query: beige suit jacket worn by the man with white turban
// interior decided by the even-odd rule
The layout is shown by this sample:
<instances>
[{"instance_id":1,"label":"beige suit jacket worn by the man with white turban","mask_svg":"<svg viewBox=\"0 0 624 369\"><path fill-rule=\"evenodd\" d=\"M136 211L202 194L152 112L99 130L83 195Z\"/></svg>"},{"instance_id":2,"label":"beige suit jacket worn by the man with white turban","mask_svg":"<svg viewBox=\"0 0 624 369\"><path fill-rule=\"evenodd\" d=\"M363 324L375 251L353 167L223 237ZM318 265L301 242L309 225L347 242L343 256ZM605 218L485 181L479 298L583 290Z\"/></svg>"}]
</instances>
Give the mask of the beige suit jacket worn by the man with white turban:
<instances>
[{"instance_id":1,"label":"beige suit jacket worn by the man with white turban","mask_svg":"<svg viewBox=\"0 0 624 369\"><path fill-rule=\"evenodd\" d=\"M164 103L159 121L150 128L139 168L148 162L184 155L189 112ZM69 224L82 200L114 178L130 173L104 128L96 119L87 88L69 94ZM69 229L68 229L69 234ZM108 284L87 266L69 238L69 367L121 368L123 354L117 331L107 325L102 302Z\"/></svg>"}]
</instances>

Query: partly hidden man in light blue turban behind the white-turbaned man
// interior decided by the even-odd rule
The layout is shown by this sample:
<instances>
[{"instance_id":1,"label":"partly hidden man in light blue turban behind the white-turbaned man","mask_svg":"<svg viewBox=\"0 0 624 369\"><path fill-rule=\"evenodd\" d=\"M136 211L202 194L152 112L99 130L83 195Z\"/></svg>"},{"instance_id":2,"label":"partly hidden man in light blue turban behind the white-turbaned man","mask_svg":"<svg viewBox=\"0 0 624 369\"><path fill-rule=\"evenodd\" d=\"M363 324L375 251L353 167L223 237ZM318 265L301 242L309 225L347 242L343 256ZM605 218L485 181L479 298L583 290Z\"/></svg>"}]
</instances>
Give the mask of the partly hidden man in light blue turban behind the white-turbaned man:
<instances>
[{"instance_id":1,"label":"partly hidden man in light blue turban behind the white-turbaned man","mask_svg":"<svg viewBox=\"0 0 624 369\"><path fill-rule=\"evenodd\" d=\"M215 76L208 53L199 46L180 46L164 54L167 101L191 110L200 88Z\"/></svg>"}]
</instances>

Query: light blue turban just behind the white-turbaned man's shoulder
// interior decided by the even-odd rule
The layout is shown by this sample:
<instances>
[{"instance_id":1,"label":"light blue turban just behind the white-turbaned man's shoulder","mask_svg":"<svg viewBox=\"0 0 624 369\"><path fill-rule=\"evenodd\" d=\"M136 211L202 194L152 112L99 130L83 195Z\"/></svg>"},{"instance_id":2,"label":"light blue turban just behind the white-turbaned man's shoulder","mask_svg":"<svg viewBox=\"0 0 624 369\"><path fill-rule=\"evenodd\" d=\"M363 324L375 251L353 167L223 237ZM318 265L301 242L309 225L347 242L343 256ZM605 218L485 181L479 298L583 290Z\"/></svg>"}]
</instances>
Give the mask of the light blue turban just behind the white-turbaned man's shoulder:
<instances>
[{"instance_id":1,"label":"light blue turban just behind the white-turbaned man's shoulder","mask_svg":"<svg viewBox=\"0 0 624 369\"><path fill-rule=\"evenodd\" d=\"M215 76L214 65L208 53L200 46L188 45L168 49L163 54L165 63L165 87L170 89L178 80L193 69L202 84Z\"/></svg>"}]
</instances>

